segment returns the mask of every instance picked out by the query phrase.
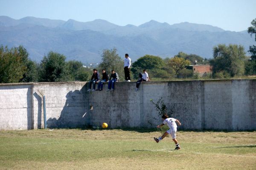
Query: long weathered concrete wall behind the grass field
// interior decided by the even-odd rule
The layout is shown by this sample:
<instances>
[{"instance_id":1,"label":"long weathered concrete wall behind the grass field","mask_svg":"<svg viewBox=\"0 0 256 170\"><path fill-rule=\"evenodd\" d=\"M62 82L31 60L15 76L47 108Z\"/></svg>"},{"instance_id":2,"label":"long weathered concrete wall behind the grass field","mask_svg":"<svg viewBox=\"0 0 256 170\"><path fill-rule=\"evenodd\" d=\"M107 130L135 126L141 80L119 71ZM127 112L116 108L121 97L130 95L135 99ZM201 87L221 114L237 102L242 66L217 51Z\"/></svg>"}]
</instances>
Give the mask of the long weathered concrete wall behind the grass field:
<instances>
[{"instance_id":1,"label":"long weathered concrete wall behind the grass field","mask_svg":"<svg viewBox=\"0 0 256 170\"><path fill-rule=\"evenodd\" d=\"M161 119L150 99L163 97L182 122L180 129L256 130L254 79L146 82L139 91L135 82L116 82L114 91L106 92L107 84L103 91L87 89L86 82L1 84L0 129L44 128L43 94L49 128L102 122L112 128L155 127Z\"/></svg>"}]
</instances>

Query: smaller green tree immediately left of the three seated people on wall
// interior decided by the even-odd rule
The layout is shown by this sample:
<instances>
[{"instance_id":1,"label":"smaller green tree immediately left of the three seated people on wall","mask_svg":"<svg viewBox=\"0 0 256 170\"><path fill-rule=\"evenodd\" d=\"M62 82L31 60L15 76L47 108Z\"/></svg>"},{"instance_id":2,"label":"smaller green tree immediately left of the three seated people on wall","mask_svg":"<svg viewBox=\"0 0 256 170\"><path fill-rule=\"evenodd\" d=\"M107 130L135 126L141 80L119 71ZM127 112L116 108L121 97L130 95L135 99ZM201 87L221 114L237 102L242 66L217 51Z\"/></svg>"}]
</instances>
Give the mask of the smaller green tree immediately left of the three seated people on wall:
<instances>
[{"instance_id":1,"label":"smaller green tree immediately left of the three seated people on wall","mask_svg":"<svg viewBox=\"0 0 256 170\"><path fill-rule=\"evenodd\" d=\"M82 62L71 60L67 62L70 81L88 81L88 73Z\"/></svg>"}]
</instances>

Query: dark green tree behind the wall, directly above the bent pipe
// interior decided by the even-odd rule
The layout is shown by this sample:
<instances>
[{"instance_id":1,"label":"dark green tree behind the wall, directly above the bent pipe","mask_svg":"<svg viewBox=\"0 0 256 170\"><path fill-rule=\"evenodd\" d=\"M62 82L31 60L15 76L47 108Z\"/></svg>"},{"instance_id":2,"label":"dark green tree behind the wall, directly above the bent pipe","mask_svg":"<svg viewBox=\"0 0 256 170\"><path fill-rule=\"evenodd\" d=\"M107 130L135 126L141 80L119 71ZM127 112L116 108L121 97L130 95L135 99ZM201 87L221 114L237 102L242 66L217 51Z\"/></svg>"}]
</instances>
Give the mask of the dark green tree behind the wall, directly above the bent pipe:
<instances>
[{"instance_id":1,"label":"dark green tree behind the wall, directly above the bent pipe","mask_svg":"<svg viewBox=\"0 0 256 170\"><path fill-rule=\"evenodd\" d=\"M41 61L40 81L42 82L64 82L70 79L66 57L50 51Z\"/></svg>"}]
</instances>

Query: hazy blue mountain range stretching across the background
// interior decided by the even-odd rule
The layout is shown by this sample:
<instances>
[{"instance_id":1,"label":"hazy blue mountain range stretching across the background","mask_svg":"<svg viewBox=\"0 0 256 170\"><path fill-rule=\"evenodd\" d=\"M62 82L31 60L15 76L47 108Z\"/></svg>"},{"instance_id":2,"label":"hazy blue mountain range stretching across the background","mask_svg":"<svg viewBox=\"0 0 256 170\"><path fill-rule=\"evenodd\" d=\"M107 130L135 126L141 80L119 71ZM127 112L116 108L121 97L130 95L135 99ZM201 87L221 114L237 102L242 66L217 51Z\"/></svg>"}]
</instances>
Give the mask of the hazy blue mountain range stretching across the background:
<instances>
[{"instance_id":1,"label":"hazy blue mountain range stretching across the background","mask_svg":"<svg viewBox=\"0 0 256 170\"><path fill-rule=\"evenodd\" d=\"M64 54L67 60L97 63L103 49L116 48L120 57L128 53L132 61L145 54L173 57L179 51L209 59L212 48L218 44L243 45L248 51L255 41L247 31L225 31L187 22L169 25L151 20L140 26L118 26L100 19L79 22L0 16L1 44L9 48L23 45L29 57L37 62L49 51L55 51Z\"/></svg>"}]
</instances>

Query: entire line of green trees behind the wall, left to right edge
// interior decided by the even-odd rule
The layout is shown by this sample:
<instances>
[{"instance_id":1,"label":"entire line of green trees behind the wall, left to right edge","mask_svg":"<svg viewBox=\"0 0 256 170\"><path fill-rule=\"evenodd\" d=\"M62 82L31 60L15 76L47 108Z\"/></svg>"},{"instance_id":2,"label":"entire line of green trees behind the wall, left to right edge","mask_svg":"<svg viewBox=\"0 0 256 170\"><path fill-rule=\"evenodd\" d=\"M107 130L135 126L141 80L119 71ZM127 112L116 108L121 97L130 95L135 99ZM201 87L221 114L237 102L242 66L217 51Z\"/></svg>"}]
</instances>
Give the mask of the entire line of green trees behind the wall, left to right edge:
<instances>
[{"instance_id":1,"label":"entire line of green trees behind the wall, left to right edge","mask_svg":"<svg viewBox=\"0 0 256 170\"><path fill-rule=\"evenodd\" d=\"M256 19L251 22L248 33L255 35ZM158 56L145 55L137 59L131 66L131 77L136 80L139 73L146 69L151 80L172 79L227 79L232 77L244 77L256 75L256 46L252 45L247 57L244 47L241 45L219 44L213 47L213 58L206 59L195 54L179 52L172 58L162 59ZM124 80L123 59L117 54L117 49L105 49L102 51L102 61L98 70L105 69L107 73L115 70L119 79ZM132 59L132 56L131 56ZM187 69L193 64L209 64L212 72L199 77L198 73ZM92 75L92 68L85 68L82 62L66 61L62 54L50 51L40 63L29 58L29 54L23 46L8 48L0 46L0 83L15 82L66 82L88 81Z\"/></svg>"}]
</instances>

